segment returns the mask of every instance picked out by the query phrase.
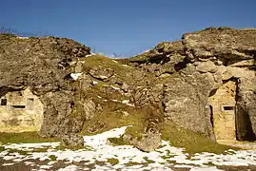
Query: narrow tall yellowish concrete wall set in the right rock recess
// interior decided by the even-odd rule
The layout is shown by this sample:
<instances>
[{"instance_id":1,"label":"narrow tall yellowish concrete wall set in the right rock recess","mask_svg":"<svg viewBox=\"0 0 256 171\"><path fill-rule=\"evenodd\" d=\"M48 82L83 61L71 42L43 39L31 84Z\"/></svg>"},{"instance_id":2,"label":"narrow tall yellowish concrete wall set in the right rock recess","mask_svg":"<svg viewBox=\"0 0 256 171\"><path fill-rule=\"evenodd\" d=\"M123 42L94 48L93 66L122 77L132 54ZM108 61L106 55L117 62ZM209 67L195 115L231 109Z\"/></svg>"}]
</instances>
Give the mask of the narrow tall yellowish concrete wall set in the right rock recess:
<instances>
[{"instance_id":1,"label":"narrow tall yellowish concrete wall set in the right rock recess","mask_svg":"<svg viewBox=\"0 0 256 171\"><path fill-rule=\"evenodd\" d=\"M236 140L236 83L228 81L209 98L216 140Z\"/></svg>"}]
</instances>

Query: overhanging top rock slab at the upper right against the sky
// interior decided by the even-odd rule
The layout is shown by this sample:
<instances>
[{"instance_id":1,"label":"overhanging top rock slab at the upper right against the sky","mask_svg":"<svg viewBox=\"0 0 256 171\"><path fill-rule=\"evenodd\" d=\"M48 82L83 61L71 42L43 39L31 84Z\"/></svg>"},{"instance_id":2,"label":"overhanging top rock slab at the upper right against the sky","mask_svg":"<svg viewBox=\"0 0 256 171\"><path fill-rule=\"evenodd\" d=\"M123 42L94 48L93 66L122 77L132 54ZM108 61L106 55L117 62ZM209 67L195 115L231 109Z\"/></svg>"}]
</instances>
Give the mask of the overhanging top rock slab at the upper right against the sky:
<instances>
[{"instance_id":1,"label":"overhanging top rock slab at the upper right against the sky","mask_svg":"<svg viewBox=\"0 0 256 171\"><path fill-rule=\"evenodd\" d=\"M255 32L256 29L207 28L184 34L183 43L190 59L215 57L228 66L255 57Z\"/></svg>"}]
</instances>

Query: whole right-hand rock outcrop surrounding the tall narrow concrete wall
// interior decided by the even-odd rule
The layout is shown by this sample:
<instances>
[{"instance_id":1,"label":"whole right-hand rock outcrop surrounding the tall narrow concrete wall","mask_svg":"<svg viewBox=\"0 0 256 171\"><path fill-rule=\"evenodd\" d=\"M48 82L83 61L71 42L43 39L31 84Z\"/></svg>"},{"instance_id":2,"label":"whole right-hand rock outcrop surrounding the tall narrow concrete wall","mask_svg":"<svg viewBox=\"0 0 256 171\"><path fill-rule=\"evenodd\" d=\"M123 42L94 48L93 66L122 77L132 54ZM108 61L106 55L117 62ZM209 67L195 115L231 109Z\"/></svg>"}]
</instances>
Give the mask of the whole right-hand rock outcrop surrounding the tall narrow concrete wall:
<instances>
[{"instance_id":1,"label":"whole right-hand rock outcrop surrounding the tall narrow concrete wall","mask_svg":"<svg viewBox=\"0 0 256 171\"><path fill-rule=\"evenodd\" d=\"M154 59L159 59L157 64L162 65L150 71L167 77L166 120L214 140L208 98L227 81L236 80L237 139L255 140L255 37L256 29L207 28L184 34L181 42L164 42L150 50L145 67L151 68Z\"/></svg>"}]
</instances>

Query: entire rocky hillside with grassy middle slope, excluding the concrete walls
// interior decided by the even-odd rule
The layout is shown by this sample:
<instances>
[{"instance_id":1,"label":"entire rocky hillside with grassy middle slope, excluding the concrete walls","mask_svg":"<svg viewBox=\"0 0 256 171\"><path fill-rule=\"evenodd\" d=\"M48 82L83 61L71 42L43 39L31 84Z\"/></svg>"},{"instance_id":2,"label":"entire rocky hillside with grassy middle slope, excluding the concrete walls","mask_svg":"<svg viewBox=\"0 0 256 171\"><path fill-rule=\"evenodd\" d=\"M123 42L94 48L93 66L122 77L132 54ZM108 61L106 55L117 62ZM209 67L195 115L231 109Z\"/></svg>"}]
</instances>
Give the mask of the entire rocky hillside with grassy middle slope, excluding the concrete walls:
<instances>
[{"instance_id":1,"label":"entire rocky hillside with grassy middle slope, excluding the concrete walls","mask_svg":"<svg viewBox=\"0 0 256 171\"><path fill-rule=\"evenodd\" d=\"M184 142L175 134L214 141L209 99L230 81L236 137L255 140L255 58L256 29L207 28L119 60L69 39L1 34L0 97L30 87L45 106L41 136L132 124L122 141L151 151L161 138Z\"/></svg>"}]
</instances>

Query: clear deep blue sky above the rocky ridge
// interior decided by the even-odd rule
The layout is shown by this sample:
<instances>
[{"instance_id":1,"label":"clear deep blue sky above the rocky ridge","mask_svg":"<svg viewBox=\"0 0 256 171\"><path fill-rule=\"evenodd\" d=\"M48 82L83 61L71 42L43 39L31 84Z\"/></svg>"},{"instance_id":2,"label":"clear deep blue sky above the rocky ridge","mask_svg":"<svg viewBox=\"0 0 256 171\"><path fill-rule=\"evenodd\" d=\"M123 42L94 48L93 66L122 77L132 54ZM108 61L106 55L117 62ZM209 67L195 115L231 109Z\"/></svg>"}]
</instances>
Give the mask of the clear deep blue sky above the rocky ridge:
<instances>
[{"instance_id":1,"label":"clear deep blue sky above the rocky ridge","mask_svg":"<svg viewBox=\"0 0 256 171\"><path fill-rule=\"evenodd\" d=\"M256 28L255 0L1 0L0 27L132 56L208 27Z\"/></svg>"}]
</instances>

